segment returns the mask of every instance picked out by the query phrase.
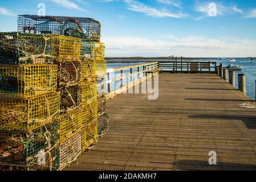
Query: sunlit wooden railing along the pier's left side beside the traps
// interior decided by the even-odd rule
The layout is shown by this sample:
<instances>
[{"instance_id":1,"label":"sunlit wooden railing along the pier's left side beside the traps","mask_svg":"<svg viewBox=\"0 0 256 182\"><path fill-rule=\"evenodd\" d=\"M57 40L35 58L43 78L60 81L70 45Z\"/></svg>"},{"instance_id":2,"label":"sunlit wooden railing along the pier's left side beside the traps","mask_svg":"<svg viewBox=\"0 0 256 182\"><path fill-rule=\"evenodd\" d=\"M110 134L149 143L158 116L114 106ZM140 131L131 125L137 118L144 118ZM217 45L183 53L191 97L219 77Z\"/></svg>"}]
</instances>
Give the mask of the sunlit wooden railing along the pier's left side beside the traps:
<instances>
[{"instance_id":1,"label":"sunlit wooden railing along the pier's left side beside the traps","mask_svg":"<svg viewBox=\"0 0 256 182\"><path fill-rule=\"evenodd\" d=\"M117 94L126 92L129 88L147 80L157 68L159 68L158 61L107 69L107 98L113 98Z\"/></svg>"}]
</instances>

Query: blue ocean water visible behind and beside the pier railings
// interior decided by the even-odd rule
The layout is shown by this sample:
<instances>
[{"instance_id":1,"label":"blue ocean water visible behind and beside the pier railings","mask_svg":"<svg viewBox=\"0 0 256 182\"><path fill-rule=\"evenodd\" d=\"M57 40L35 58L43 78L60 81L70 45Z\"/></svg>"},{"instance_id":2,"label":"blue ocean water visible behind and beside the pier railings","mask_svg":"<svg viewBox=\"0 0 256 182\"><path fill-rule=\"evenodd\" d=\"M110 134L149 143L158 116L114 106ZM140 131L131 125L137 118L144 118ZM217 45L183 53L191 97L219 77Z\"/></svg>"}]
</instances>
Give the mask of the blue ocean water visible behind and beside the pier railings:
<instances>
[{"instance_id":1,"label":"blue ocean water visible behind and beside the pier railings","mask_svg":"<svg viewBox=\"0 0 256 182\"><path fill-rule=\"evenodd\" d=\"M251 99L255 100L255 80L256 80L256 60L250 59L235 59L234 65L241 65L241 71L235 71L235 88L238 88L238 74L245 73L246 76L246 95ZM109 60L111 61L111 60ZM122 61L122 60L113 60L113 61ZM150 60L123 60L123 61L135 61L136 63L108 63L107 68L117 68L124 67L127 65L141 64L144 61ZM152 60L152 61L160 61L160 60ZM185 60L184 60L185 61ZM222 63L223 67L229 65L229 59L213 58L213 59L198 59L193 61L216 61L217 63ZM124 75L128 74L129 71L124 72ZM116 77L120 76L119 73L116 73ZM141 77L142 75L140 75ZM129 80L126 80L127 82ZM116 87L120 86L120 82L117 82Z\"/></svg>"}]
</instances>

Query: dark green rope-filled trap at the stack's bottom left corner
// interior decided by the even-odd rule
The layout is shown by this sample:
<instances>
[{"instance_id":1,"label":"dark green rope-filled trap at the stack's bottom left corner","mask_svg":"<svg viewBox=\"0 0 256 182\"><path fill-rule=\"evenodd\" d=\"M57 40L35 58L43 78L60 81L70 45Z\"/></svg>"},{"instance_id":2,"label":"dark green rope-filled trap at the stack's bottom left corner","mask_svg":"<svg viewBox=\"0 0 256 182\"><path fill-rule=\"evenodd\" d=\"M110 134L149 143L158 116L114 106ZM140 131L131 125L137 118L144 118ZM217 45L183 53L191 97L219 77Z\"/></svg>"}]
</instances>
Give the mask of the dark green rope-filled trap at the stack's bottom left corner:
<instances>
[{"instance_id":1,"label":"dark green rope-filled trap at the stack's bottom left corner","mask_svg":"<svg viewBox=\"0 0 256 182\"><path fill-rule=\"evenodd\" d=\"M59 141L58 130L59 125L55 121L29 133L1 131L0 165L46 165L46 153L53 150Z\"/></svg>"}]
</instances>

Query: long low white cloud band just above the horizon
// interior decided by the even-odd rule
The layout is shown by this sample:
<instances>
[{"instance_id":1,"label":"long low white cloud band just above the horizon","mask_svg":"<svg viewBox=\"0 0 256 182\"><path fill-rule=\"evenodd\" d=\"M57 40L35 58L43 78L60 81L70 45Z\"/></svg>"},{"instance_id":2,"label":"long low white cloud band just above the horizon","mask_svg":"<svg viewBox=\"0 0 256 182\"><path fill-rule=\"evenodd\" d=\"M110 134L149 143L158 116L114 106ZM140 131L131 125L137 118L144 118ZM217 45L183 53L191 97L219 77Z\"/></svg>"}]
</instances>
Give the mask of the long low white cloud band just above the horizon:
<instances>
[{"instance_id":1,"label":"long low white cloud band just above the horizon","mask_svg":"<svg viewBox=\"0 0 256 182\"><path fill-rule=\"evenodd\" d=\"M168 36L168 35L167 35ZM170 40L151 40L138 37L103 37L106 56L170 56L186 57L253 57L256 40L204 36L188 36Z\"/></svg>"}]
</instances>

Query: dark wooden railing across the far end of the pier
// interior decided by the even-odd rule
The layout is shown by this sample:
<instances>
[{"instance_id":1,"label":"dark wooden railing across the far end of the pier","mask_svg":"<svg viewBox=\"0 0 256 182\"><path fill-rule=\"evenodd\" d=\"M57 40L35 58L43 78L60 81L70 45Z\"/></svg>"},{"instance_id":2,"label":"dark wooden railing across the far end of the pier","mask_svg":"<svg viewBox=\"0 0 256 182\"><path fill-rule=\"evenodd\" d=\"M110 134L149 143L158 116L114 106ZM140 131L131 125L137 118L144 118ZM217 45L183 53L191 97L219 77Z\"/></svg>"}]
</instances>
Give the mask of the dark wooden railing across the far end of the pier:
<instances>
[{"instance_id":1,"label":"dark wooden railing across the far end of the pier","mask_svg":"<svg viewBox=\"0 0 256 182\"><path fill-rule=\"evenodd\" d=\"M217 73L216 62L205 61L159 61L162 72L168 73Z\"/></svg>"}]
</instances>

